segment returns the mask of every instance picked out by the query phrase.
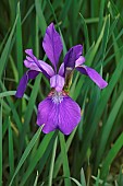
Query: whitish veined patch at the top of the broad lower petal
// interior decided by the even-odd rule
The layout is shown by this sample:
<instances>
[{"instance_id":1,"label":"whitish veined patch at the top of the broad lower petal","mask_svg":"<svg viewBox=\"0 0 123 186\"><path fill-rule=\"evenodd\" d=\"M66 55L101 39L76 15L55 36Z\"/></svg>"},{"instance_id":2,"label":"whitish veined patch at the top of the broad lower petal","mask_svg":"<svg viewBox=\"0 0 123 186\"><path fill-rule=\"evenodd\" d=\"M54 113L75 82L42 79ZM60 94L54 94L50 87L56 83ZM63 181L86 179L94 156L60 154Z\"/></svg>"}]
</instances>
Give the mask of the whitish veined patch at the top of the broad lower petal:
<instances>
[{"instance_id":1,"label":"whitish veined patch at the top of the broad lower petal","mask_svg":"<svg viewBox=\"0 0 123 186\"><path fill-rule=\"evenodd\" d=\"M62 92L57 92L54 91L53 94L52 94L52 102L54 104L59 104L63 101L63 94Z\"/></svg>"}]
</instances>

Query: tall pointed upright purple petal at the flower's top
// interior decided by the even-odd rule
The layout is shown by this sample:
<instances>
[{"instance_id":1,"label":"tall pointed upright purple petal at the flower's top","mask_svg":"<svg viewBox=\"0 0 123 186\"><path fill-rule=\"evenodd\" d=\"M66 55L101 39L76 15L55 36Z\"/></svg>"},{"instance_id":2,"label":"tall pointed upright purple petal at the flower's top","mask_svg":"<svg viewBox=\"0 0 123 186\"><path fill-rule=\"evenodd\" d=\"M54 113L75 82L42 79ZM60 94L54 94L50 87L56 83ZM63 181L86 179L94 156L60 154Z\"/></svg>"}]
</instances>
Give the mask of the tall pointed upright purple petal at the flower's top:
<instances>
[{"instance_id":1,"label":"tall pointed upright purple petal at the flower's top","mask_svg":"<svg viewBox=\"0 0 123 186\"><path fill-rule=\"evenodd\" d=\"M59 57L61 55L63 46L61 37L56 31L53 23L51 23L46 30L42 47L46 51L46 55L54 66L54 70L57 71L57 65L59 62Z\"/></svg>"}]
</instances>

